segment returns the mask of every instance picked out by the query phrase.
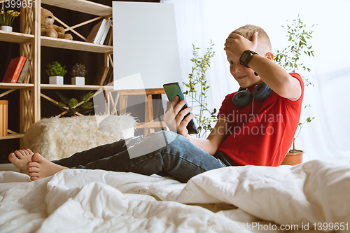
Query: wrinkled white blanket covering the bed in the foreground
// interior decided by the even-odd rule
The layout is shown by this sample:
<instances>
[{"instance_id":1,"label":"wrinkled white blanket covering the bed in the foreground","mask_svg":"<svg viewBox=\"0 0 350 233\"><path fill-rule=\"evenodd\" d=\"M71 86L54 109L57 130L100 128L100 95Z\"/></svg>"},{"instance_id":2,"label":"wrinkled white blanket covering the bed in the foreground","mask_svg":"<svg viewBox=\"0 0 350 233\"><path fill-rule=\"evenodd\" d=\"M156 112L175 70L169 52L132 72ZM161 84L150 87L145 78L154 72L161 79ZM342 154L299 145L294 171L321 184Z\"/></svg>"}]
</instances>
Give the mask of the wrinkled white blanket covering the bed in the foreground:
<instances>
[{"instance_id":1,"label":"wrinkled white blanket covering the bed in the foreground","mask_svg":"<svg viewBox=\"0 0 350 233\"><path fill-rule=\"evenodd\" d=\"M314 232L314 227L349 232L350 227L350 165L318 160L216 169L187 184L84 169L34 182L5 171L0 182L0 232Z\"/></svg>"}]
</instances>

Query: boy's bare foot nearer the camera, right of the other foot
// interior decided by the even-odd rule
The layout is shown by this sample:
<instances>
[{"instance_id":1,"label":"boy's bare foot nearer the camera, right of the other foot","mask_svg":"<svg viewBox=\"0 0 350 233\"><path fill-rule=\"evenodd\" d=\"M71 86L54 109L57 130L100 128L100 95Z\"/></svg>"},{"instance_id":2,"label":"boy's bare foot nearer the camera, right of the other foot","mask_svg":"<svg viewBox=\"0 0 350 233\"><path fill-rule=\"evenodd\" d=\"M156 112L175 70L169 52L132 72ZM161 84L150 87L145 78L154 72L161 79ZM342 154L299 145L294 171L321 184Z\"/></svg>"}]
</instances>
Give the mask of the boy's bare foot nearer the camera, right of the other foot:
<instances>
[{"instance_id":1,"label":"boy's bare foot nearer the camera, right of the other foot","mask_svg":"<svg viewBox=\"0 0 350 233\"><path fill-rule=\"evenodd\" d=\"M38 153L35 153L33 156L31 156L31 162L28 162L27 167L28 175L30 176L31 181L36 181L41 178L52 176L59 171L68 169L68 167L63 167L61 165L54 164L49 160L46 160Z\"/></svg>"}]
</instances>

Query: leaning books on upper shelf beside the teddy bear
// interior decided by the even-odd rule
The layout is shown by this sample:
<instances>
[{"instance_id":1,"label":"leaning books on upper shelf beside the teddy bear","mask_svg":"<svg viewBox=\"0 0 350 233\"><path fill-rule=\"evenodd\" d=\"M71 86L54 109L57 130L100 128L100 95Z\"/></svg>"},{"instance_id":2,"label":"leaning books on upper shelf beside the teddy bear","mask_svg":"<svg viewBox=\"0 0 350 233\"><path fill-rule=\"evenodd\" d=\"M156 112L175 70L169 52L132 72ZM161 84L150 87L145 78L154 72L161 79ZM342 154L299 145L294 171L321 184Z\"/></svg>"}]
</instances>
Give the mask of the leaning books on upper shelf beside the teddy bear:
<instances>
[{"instance_id":1,"label":"leaning books on upper shelf beside the teddy bear","mask_svg":"<svg viewBox=\"0 0 350 233\"><path fill-rule=\"evenodd\" d=\"M112 43L112 20L103 19L94 25L85 42L96 43L99 45L111 45Z\"/></svg>"}]
</instances>

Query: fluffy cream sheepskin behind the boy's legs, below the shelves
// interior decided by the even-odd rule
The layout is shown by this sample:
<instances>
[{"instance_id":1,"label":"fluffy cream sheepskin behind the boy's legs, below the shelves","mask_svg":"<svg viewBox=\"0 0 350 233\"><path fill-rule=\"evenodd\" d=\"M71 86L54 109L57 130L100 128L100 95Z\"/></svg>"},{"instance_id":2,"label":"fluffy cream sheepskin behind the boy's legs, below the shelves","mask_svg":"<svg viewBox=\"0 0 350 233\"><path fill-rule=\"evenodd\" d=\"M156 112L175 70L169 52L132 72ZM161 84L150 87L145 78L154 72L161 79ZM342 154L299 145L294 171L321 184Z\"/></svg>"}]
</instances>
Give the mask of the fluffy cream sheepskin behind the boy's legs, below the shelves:
<instances>
[{"instance_id":1,"label":"fluffy cream sheepskin behind the boy's legs, below the shelves","mask_svg":"<svg viewBox=\"0 0 350 233\"><path fill-rule=\"evenodd\" d=\"M131 115L87 115L45 118L29 127L25 148L48 160L59 160L76 152L134 136L136 120Z\"/></svg>"}]
</instances>

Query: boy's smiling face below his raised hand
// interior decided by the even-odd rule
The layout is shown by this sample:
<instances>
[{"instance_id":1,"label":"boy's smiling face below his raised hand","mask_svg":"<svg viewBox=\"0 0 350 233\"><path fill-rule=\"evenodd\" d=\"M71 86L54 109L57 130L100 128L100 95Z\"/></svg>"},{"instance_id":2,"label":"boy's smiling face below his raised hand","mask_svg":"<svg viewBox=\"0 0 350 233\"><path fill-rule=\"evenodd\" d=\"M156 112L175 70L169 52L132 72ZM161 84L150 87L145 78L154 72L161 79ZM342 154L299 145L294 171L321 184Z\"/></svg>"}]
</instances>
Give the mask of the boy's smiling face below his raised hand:
<instances>
[{"instance_id":1,"label":"boy's smiling face below his raised hand","mask_svg":"<svg viewBox=\"0 0 350 233\"><path fill-rule=\"evenodd\" d=\"M226 52L228 62L230 62L230 73L237 80L240 87L250 87L251 85L262 83L259 76L255 76L254 71L248 67L239 64L230 52Z\"/></svg>"}]
</instances>

